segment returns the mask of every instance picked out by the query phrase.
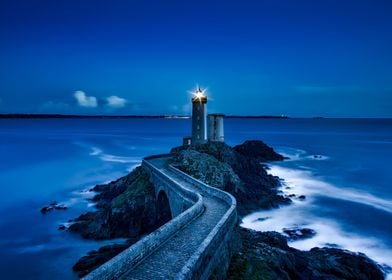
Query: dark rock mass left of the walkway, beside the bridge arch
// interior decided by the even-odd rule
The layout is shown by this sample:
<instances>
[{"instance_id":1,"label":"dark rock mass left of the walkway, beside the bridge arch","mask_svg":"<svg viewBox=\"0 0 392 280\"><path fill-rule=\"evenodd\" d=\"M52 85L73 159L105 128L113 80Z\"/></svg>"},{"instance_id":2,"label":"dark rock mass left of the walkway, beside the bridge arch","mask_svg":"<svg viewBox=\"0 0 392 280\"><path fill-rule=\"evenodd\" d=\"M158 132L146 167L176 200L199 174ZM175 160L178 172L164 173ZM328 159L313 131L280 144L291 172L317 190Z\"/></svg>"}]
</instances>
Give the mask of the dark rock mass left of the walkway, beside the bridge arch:
<instances>
[{"instance_id":1,"label":"dark rock mass left of the walkway, beside the bridge arch","mask_svg":"<svg viewBox=\"0 0 392 280\"><path fill-rule=\"evenodd\" d=\"M85 238L138 238L156 228L154 187L142 168L137 168L107 185L97 185L100 192L93 201L98 211L79 216L69 228Z\"/></svg>"}]
</instances>

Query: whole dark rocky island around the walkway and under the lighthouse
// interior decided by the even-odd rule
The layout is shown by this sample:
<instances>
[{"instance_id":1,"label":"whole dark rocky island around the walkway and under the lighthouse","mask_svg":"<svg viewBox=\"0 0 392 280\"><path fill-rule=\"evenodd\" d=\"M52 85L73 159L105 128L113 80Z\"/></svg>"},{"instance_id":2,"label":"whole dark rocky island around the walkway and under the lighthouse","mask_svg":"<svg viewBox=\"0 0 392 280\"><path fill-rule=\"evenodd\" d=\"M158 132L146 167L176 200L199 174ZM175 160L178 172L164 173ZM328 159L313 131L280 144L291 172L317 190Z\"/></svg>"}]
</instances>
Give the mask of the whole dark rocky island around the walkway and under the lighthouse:
<instances>
[{"instance_id":1,"label":"whole dark rocky island around the walkway and under the lighthouse","mask_svg":"<svg viewBox=\"0 0 392 280\"><path fill-rule=\"evenodd\" d=\"M261 141L246 141L230 147L223 142L181 146L171 151L172 162L183 172L213 187L231 193L241 216L260 209L291 203L279 194L280 179L267 173L268 161L284 160ZM126 238L125 244L90 252L73 267L84 276L170 217L157 213L154 188L142 167L93 191L96 211L75 219L69 231L89 239ZM228 279L384 279L380 267L363 254L336 248L313 248L303 252L287 245L277 232L255 232L237 227ZM287 229L292 238L316 234ZM222 278L222 276L218 277Z\"/></svg>"}]
</instances>

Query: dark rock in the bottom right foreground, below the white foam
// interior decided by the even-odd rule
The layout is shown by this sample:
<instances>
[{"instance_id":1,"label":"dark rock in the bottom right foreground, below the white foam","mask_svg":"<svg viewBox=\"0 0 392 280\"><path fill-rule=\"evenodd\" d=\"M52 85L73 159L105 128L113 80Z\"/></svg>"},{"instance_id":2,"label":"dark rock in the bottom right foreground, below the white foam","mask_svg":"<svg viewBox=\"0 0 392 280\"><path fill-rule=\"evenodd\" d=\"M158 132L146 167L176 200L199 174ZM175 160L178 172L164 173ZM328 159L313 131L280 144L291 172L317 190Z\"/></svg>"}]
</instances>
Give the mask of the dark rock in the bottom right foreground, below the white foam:
<instances>
[{"instance_id":1,"label":"dark rock in the bottom right foreground, below the white foam","mask_svg":"<svg viewBox=\"0 0 392 280\"><path fill-rule=\"evenodd\" d=\"M384 279L363 254L333 248L299 251L277 232L239 229L242 249L230 264L228 279Z\"/></svg>"}]
</instances>

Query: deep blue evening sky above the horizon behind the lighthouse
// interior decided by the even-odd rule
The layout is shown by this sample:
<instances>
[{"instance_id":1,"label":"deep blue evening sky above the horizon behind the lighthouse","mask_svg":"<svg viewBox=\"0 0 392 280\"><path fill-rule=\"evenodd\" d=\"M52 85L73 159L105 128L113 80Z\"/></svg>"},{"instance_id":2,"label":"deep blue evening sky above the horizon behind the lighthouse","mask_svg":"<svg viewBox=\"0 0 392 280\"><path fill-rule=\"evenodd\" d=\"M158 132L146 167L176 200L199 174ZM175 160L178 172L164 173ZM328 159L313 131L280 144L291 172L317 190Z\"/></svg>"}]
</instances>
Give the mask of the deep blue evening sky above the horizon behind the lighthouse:
<instances>
[{"instance_id":1,"label":"deep blue evening sky above the horizon behind the lighthouse","mask_svg":"<svg viewBox=\"0 0 392 280\"><path fill-rule=\"evenodd\" d=\"M0 2L0 112L392 117L392 1Z\"/></svg>"}]
</instances>

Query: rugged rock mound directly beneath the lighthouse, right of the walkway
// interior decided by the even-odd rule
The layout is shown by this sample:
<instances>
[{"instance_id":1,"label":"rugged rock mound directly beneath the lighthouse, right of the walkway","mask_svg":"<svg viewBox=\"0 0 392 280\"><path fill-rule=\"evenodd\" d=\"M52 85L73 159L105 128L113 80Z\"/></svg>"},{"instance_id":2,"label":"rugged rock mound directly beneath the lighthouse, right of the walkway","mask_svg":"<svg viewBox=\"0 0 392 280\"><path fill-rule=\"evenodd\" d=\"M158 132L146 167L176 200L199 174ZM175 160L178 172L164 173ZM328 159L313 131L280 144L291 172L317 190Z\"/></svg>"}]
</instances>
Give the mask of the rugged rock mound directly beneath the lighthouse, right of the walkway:
<instances>
[{"instance_id":1,"label":"rugged rock mound directly beneath the lighthouse, right of the walkway","mask_svg":"<svg viewBox=\"0 0 392 280\"><path fill-rule=\"evenodd\" d=\"M221 142L174 148L173 164L201 181L230 192L237 199L238 212L241 215L255 209L274 208L290 203L289 198L277 194L279 179L267 174L265 166L260 164L259 157L248 156L250 153L247 152L247 148L262 148L263 161L266 158L283 159L283 157L261 141L245 143L244 147L236 146L236 149L245 155Z\"/></svg>"}]
</instances>

